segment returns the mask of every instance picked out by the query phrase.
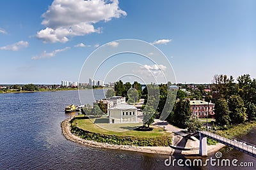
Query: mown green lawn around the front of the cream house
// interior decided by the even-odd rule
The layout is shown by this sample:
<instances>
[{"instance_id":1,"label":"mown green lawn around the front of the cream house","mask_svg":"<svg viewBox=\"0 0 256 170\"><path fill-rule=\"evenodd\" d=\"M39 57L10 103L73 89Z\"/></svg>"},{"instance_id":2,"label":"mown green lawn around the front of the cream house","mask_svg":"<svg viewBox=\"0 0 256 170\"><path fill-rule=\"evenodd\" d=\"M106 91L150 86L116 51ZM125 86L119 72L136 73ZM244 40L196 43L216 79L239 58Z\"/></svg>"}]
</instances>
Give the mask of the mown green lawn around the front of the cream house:
<instances>
[{"instance_id":1,"label":"mown green lawn around the front of the cream house","mask_svg":"<svg viewBox=\"0 0 256 170\"><path fill-rule=\"evenodd\" d=\"M133 131L136 127L142 125L140 123L131 123L131 124L93 124L95 119L76 119L73 124L83 129L85 131L108 134L108 135L117 135L117 136L133 136L141 138L157 138L161 136L170 136L170 133L163 130L161 127L154 127L153 131L142 132L142 131ZM102 128L103 127L103 128ZM104 129L105 128L105 129ZM111 129L113 131L110 131Z\"/></svg>"}]
</instances>

